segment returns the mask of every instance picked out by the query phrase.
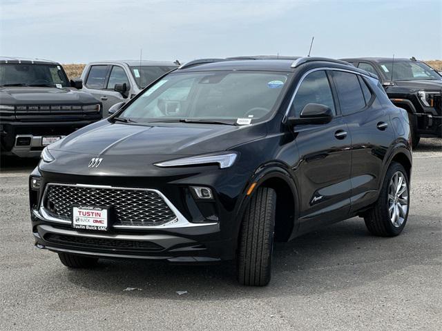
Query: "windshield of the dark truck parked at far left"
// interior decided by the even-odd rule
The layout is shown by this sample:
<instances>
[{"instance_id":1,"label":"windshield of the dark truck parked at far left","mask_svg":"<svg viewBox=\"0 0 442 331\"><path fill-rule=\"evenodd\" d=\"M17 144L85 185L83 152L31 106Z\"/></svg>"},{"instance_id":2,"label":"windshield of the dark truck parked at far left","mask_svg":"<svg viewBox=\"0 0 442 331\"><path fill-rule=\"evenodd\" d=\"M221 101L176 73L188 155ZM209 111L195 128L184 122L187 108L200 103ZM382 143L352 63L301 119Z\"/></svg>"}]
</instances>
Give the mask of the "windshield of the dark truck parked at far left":
<instances>
[{"instance_id":1,"label":"windshield of the dark truck parked at far left","mask_svg":"<svg viewBox=\"0 0 442 331\"><path fill-rule=\"evenodd\" d=\"M0 64L0 86L69 86L68 77L56 64Z\"/></svg>"}]
</instances>

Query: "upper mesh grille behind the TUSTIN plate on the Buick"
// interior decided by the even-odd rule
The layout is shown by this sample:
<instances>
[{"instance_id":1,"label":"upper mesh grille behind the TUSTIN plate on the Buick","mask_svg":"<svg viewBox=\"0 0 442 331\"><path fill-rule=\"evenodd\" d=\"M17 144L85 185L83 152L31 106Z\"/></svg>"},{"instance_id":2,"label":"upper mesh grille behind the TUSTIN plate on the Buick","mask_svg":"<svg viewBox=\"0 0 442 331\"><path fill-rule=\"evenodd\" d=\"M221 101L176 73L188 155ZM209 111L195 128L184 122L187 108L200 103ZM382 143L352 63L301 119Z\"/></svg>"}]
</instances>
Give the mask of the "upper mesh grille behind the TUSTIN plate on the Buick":
<instances>
[{"instance_id":1,"label":"upper mesh grille behind the TUSTIN plate on the Buick","mask_svg":"<svg viewBox=\"0 0 442 331\"><path fill-rule=\"evenodd\" d=\"M50 216L68 221L72 219L73 205L111 207L113 225L155 226L176 219L169 205L153 190L49 184L43 205Z\"/></svg>"}]
</instances>

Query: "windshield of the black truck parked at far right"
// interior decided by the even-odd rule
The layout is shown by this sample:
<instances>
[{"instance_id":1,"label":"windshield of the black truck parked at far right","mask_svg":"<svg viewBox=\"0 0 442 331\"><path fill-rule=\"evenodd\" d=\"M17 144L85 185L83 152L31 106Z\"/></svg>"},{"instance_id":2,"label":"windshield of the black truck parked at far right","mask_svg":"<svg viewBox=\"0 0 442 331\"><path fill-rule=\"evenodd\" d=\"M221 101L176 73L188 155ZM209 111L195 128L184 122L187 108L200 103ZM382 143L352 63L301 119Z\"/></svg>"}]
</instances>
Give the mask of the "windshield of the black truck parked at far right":
<instances>
[{"instance_id":1,"label":"windshield of the black truck parked at far right","mask_svg":"<svg viewBox=\"0 0 442 331\"><path fill-rule=\"evenodd\" d=\"M386 79L394 81L416 81L422 79L442 79L442 77L434 71L433 68L419 61L395 61L380 62L379 65L383 70Z\"/></svg>"}]
</instances>

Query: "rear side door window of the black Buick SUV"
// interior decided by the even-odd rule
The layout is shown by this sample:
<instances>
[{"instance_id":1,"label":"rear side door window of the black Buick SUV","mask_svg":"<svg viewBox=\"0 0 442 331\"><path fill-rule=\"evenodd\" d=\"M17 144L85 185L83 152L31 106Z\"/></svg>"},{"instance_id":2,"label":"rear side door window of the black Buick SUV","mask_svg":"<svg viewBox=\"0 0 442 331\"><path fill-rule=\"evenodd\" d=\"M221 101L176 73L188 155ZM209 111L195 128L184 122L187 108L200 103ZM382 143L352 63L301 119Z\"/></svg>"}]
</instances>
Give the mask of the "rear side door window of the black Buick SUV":
<instances>
[{"instance_id":1,"label":"rear side door window of the black Buick SUV","mask_svg":"<svg viewBox=\"0 0 442 331\"><path fill-rule=\"evenodd\" d=\"M365 107L365 99L356 74L333 71L341 112L351 114Z\"/></svg>"}]
</instances>

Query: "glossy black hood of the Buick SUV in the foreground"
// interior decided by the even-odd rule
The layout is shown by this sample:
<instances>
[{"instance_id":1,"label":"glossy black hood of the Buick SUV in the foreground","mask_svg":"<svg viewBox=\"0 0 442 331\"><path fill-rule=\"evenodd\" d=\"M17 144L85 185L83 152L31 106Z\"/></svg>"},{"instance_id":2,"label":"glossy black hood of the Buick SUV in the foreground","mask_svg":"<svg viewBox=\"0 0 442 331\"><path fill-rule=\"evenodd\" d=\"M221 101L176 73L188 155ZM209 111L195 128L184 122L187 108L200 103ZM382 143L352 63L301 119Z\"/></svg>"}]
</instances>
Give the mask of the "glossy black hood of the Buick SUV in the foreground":
<instances>
[{"instance_id":1,"label":"glossy black hood of the Buick SUV in the foreground","mask_svg":"<svg viewBox=\"0 0 442 331\"><path fill-rule=\"evenodd\" d=\"M262 124L261 124L262 125ZM262 137L256 126L201 123L110 123L107 119L77 130L49 150L104 155L195 155L226 150Z\"/></svg>"}]
</instances>

